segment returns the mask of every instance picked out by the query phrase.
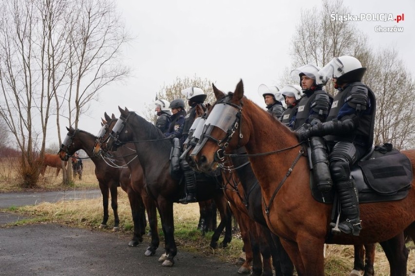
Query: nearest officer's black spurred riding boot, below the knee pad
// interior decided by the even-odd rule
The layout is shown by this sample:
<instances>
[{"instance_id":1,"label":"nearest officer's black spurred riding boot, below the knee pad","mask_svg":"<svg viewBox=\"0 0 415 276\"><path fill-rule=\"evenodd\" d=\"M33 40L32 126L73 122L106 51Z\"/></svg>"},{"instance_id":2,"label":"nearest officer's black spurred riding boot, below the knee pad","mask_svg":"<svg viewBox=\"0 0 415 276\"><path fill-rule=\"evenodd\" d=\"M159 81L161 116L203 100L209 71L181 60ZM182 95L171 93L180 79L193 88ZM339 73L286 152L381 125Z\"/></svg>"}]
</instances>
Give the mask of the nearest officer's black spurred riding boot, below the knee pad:
<instances>
[{"instance_id":1,"label":"nearest officer's black spurred riding boot, below the knee pad","mask_svg":"<svg viewBox=\"0 0 415 276\"><path fill-rule=\"evenodd\" d=\"M359 236L362 227L360 225L358 191L355 187L355 181L353 179L342 181L337 183L336 186L339 193L341 213L347 217L346 220L339 223L339 229L343 233ZM335 225L333 222L330 223L330 226L334 227ZM333 233L340 234L336 230Z\"/></svg>"}]
</instances>

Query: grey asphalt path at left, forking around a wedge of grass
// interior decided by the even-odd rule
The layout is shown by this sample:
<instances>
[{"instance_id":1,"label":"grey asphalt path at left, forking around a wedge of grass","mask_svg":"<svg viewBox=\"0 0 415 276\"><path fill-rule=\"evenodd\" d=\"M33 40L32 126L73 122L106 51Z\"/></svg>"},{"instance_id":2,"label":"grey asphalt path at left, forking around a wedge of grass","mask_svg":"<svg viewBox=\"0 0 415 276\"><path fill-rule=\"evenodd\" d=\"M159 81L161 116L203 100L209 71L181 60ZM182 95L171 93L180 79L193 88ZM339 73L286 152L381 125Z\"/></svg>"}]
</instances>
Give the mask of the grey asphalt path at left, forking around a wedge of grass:
<instances>
[{"instance_id":1,"label":"grey asphalt path at left, forking around a wedge of grass","mask_svg":"<svg viewBox=\"0 0 415 276\"><path fill-rule=\"evenodd\" d=\"M55 202L62 198L100 197L86 191L0 194L0 208L18 206L22 202L37 204ZM95 191L96 192L96 191ZM51 193L51 194L49 194ZM63 195L62 195L63 193ZM7 201L7 202L4 202ZM157 262L161 247L155 256L144 252L149 244L127 246L129 235L111 233L108 230L85 230L59 224L27 224L10 226L25 217L0 212L0 275L139 275L139 276L237 276L239 266L214 257L185 252L178 248L173 267L162 267Z\"/></svg>"}]
</instances>

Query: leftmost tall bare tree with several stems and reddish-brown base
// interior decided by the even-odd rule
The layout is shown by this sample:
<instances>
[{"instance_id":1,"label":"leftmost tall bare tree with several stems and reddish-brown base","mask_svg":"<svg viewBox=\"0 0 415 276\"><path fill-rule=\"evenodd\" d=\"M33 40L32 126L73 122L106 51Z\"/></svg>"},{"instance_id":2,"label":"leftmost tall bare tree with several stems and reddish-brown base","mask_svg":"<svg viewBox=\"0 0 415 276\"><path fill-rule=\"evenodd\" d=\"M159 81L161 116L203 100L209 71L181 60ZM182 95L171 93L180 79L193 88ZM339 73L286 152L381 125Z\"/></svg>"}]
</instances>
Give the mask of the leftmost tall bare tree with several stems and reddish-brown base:
<instances>
[{"instance_id":1,"label":"leftmost tall bare tree with several stems and reddish-brown base","mask_svg":"<svg viewBox=\"0 0 415 276\"><path fill-rule=\"evenodd\" d=\"M0 116L21 151L22 185L31 187L38 179L35 151L40 144L43 155L53 95L64 75L66 8L58 0L2 1L0 6Z\"/></svg>"}]
</instances>

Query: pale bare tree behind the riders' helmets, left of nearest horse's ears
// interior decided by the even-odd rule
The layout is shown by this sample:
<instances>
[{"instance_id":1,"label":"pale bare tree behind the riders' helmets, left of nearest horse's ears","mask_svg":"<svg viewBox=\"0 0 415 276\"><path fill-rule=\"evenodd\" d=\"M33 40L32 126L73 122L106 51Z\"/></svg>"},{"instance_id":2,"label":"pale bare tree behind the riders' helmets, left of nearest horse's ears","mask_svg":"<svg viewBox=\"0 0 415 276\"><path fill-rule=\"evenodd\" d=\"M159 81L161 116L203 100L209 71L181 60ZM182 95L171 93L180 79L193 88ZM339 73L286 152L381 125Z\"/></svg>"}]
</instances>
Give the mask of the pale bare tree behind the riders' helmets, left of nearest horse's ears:
<instances>
[{"instance_id":1,"label":"pale bare tree behind the riders' helmets, left of nearest horse's ears","mask_svg":"<svg viewBox=\"0 0 415 276\"><path fill-rule=\"evenodd\" d=\"M212 83L213 82L210 79L202 79L201 77L198 77L196 75L194 75L192 78L185 77L183 79L176 77L173 83L164 84L163 87L160 88L160 91L156 93L156 98L167 99L168 101L172 101L173 99L183 99L186 104L185 109L188 110L189 104L187 102L186 96L182 95L182 90L191 86L199 87L207 95L205 102L213 103L216 100L216 98L213 94ZM147 120L153 121L155 123L155 120L157 118L154 115L154 108L154 104L150 103L147 108L147 113L144 114L144 117Z\"/></svg>"}]
</instances>

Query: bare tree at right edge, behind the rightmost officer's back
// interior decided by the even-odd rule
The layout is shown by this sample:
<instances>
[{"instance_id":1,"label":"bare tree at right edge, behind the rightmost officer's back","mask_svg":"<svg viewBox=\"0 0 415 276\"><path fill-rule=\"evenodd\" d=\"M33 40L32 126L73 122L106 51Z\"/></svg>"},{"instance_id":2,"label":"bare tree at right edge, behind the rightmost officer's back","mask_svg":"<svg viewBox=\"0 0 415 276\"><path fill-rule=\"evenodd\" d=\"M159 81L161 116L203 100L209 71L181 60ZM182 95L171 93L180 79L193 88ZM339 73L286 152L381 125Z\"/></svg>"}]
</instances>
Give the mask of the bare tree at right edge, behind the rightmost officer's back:
<instances>
[{"instance_id":1,"label":"bare tree at right edge, behind the rightmost officer's back","mask_svg":"<svg viewBox=\"0 0 415 276\"><path fill-rule=\"evenodd\" d=\"M365 83L377 99L375 143L392 143L397 149L415 145L415 81L395 49L381 49L370 59Z\"/></svg>"}]
</instances>

